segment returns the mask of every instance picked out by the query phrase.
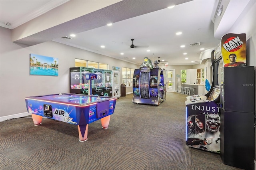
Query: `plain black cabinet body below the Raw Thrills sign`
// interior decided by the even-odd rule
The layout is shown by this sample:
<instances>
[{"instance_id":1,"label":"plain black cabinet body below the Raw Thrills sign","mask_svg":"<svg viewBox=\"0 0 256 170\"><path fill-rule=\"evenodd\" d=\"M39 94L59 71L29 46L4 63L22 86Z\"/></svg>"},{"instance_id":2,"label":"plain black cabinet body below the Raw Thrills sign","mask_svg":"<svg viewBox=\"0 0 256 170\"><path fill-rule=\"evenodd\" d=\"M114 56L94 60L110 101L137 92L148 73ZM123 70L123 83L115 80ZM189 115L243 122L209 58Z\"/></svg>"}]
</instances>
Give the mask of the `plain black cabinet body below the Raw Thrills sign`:
<instances>
[{"instance_id":1,"label":"plain black cabinet body below the Raw Thrills sign","mask_svg":"<svg viewBox=\"0 0 256 170\"><path fill-rule=\"evenodd\" d=\"M254 169L254 66L224 67L221 152L224 164Z\"/></svg>"}]
</instances>

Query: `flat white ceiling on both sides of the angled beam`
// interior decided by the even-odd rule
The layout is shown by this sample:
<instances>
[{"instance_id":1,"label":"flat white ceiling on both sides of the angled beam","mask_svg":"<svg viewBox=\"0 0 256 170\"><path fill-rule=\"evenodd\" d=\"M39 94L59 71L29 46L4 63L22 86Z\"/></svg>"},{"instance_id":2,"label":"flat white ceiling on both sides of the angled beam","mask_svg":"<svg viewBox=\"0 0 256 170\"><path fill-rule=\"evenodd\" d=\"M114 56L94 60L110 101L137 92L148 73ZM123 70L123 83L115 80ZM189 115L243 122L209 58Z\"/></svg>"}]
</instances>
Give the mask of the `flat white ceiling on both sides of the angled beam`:
<instances>
[{"instance_id":1,"label":"flat white ceiling on both sides of the angled beam","mask_svg":"<svg viewBox=\"0 0 256 170\"><path fill-rule=\"evenodd\" d=\"M14 29L68 1L0 0L1 26ZM160 4L157 0L151 2L154 2L155 6ZM200 63L199 57L202 52L200 48L212 49L220 42L214 38L214 24L211 20L212 12L215 12L215 0L165 2L177 5L172 9L161 8L147 14L135 15L133 18L128 17L128 19L114 22L112 26L86 30L77 33L72 39L59 37L54 38L53 41L136 64L141 64L144 57L152 61L160 57L160 60L168 61L169 65ZM5 22L9 22L10 25L6 26ZM182 32L182 34L177 36L176 32ZM66 36L70 37L70 35ZM130 48L131 39L134 39L134 45L139 47ZM190 47L190 43L200 43L200 45ZM100 45L105 45L105 48L102 49ZM180 45L185 47L181 48ZM146 51L148 49L150 52ZM133 57L136 59L132 59ZM188 57L187 60L186 57ZM82 56L79 58L82 59Z\"/></svg>"}]
</instances>

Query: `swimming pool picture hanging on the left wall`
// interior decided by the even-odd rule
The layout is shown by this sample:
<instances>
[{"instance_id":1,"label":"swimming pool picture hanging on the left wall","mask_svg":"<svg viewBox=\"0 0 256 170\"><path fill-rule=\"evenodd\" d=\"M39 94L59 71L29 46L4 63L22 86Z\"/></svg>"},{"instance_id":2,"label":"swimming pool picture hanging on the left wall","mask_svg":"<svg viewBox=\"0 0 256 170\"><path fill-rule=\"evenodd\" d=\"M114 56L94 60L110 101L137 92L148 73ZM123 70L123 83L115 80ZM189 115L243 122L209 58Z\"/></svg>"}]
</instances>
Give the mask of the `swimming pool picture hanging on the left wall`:
<instances>
[{"instance_id":1,"label":"swimming pool picture hanging on the left wall","mask_svg":"<svg viewBox=\"0 0 256 170\"><path fill-rule=\"evenodd\" d=\"M58 76L58 68L58 58L30 54L30 75Z\"/></svg>"}]
</instances>

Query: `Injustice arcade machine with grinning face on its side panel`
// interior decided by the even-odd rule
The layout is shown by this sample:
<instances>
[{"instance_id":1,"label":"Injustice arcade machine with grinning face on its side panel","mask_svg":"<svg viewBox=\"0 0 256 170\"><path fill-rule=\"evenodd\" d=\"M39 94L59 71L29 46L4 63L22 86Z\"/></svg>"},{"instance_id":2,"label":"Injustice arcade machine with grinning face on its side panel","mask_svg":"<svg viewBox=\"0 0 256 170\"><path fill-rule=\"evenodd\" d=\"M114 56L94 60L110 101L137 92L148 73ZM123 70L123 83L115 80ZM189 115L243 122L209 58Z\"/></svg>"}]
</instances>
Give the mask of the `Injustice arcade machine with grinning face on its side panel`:
<instances>
[{"instance_id":1,"label":"Injustice arcade machine with grinning face on its side panel","mask_svg":"<svg viewBox=\"0 0 256 170\"><path fill-rule=\"evenodd\" d=\"M213 78L205 95L186 97L187 146L220 153L220 45L212 51Z\"/></svg>"}]
</instances>

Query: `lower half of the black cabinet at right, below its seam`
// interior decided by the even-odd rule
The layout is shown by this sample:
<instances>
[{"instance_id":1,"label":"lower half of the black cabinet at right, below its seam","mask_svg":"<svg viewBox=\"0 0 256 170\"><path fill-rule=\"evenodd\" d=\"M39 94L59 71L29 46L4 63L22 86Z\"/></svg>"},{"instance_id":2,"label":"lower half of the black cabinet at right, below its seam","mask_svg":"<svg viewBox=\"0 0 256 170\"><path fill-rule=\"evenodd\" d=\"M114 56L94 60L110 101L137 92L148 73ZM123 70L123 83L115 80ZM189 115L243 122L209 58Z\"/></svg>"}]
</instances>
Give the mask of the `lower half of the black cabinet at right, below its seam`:
<instances>
[{"instance_id":1,"label":"lower half of the black cabinet at right, below its seam","mask_svg":"<svg viewBox=\"0 0 256 170\"><path fill-rule=\"evenodd\" d=\"M229 166L254 170L254 114L221 109L220 157Z\"/></svg>"}]
</instances>

